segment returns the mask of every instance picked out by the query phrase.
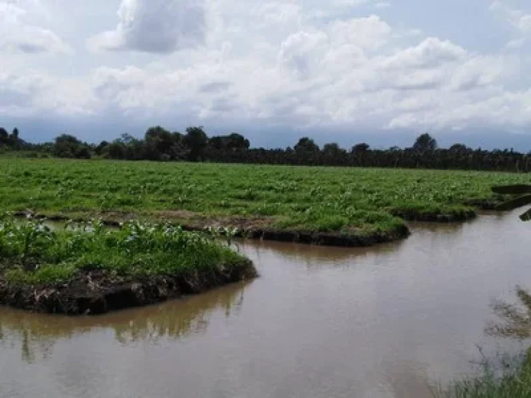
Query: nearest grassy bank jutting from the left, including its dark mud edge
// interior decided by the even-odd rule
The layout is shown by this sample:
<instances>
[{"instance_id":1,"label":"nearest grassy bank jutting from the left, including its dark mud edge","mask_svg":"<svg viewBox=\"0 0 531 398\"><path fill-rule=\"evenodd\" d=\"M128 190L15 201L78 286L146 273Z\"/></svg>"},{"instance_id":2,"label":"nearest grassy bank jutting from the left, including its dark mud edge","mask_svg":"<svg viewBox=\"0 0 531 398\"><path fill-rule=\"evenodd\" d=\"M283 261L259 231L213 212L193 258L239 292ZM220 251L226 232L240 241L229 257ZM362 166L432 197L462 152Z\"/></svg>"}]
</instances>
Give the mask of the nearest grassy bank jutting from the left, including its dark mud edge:
<instances>
[{"instance_id":1,"label":"nearest grassy bank jutting from the left, including its dark mud edge","mask_svg":"<svg viewBox=\"0 0 531 398\"><path fill-rule=\"evenodd\" d=\"M102 313L254 274L227 245L171 225L88 222L58 231L39 220L0 220L0 303L28 310Z\"/></svg>"}]
</instances>

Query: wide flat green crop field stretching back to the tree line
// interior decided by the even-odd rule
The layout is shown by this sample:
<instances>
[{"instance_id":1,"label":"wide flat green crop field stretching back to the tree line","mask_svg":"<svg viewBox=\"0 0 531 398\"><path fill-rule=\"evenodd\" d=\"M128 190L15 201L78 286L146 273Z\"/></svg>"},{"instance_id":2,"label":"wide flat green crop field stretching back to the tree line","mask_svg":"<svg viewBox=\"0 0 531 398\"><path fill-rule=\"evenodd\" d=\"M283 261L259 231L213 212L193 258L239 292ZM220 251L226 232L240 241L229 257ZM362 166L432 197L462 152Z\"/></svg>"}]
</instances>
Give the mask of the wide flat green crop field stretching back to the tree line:
<instances>
[{"instance_id":1,"label":"wide flat green crop field stretching back to the tree line","mask_svg":"<svg viewBox=\"0 0 531 398\"><path fill-rule=\"evenodd\" d=\"M374 234L459 219L526 174L240 164L0 159L0 205L68 217L169 219Z\"/></svg>"}]
</instances>

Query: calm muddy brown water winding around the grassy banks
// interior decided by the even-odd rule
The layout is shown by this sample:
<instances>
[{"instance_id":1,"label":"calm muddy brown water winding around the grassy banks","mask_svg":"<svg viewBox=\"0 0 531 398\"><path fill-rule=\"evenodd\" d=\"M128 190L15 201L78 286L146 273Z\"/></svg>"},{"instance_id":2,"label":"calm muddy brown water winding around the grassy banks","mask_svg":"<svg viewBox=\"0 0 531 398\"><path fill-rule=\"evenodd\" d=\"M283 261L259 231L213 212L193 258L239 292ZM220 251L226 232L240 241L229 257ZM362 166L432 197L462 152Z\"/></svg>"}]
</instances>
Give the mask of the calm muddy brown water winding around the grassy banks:
<instances>
[{"instance_id":1,"label":"calm muddy brown water winding around the grassy banks","mask_svg":"<svg viewBox=\"0 0 531 398\"><path fill-rule=\"evenodd\" d=\"M429 397L531 286L518 211L373 249L245 243L261 278L97 318L0 308L0 397Z\"/></svg>"}]
</instances>

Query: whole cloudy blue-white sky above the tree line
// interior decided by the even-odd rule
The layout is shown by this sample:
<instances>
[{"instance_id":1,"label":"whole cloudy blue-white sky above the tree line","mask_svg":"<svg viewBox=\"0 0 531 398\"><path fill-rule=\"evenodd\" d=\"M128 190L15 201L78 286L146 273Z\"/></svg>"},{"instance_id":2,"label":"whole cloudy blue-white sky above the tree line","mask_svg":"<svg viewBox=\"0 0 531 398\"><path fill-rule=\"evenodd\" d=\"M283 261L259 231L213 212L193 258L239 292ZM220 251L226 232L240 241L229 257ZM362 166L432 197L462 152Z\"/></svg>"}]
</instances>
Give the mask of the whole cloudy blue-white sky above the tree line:
<instances>
[{"instance_id":1,"label":"whole cloudy blue-white sky above the tree line","mask_svg":"<svg viewBox=\"0 0 531 398\"><path fill-rule=\"evenodd\" d=\"M530 64L528 0L0 0L0 125L37 141L518 146Z\"/></svg>"}]
</instances>

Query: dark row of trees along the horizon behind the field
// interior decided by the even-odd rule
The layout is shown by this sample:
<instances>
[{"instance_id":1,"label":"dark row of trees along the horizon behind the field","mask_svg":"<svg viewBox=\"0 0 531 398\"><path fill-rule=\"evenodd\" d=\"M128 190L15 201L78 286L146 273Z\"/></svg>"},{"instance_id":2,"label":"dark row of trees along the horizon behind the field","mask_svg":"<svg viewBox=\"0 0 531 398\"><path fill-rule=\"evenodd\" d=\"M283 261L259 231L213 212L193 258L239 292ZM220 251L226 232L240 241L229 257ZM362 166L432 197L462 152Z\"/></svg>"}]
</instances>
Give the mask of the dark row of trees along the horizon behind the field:
<instances>
[{"instance_id":1,"label":"dark row of trees along the horizon behind the field","mask_svg":"<svg viewBox=\"0 0 531 398\"><path fill-rule=\"evenodd\" d=\"M18 129L8 133L0 128L0 151L33 151L57 158L115 160L153 160L162 162L223 162L248 164L291 164L340 167L398 167L419 169L460 169L485 171L531 171L531 153L512 149L486 151L464 144L439 148L428 133L419 135L408 148L371 149L364 142L351 149L336 143L320 147L303 137L285 149L251 148L239 133L209 137L201 126L185 133L171 132L160 126L148 129L143 138L123 134L111 142L91 144L74 135L59 135L53 142L31 144L19 137Z\"/></svg>"}]
</instances>

